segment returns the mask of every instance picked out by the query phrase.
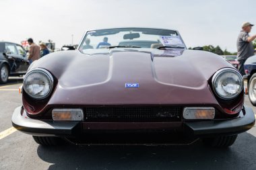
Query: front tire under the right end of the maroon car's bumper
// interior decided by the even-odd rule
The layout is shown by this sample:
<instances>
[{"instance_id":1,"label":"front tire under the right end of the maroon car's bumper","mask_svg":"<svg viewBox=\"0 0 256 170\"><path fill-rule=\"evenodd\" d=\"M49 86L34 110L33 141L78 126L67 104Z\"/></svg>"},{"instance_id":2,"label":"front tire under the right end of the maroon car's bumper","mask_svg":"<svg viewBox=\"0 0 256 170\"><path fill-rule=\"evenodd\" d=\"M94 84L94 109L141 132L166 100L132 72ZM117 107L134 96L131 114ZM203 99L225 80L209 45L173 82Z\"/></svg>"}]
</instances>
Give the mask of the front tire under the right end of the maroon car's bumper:
<instances>
[{"instance_id":1,"label":"front tire under the right end of the maroon car's bumper","mask_svg":"<svg viewBox=\"0 0 256 170\"><path fill-rule=\"evenodd\" d=\"M216 136L213 138L202 138L203 143L215 148L226 148L231 146L236 140L237 134L230 136Z\"/></svg>"}]
</instances>

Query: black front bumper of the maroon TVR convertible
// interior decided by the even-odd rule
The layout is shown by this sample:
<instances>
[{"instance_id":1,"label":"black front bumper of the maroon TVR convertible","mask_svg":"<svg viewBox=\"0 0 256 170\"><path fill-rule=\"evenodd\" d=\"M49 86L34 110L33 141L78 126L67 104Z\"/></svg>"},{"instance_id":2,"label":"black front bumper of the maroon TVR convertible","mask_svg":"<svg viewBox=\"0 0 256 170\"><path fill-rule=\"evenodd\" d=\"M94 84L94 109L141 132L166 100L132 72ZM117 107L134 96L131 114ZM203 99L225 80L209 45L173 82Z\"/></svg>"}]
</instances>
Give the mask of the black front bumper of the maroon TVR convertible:
<instances>
[{"instance_id":1,"label":"black front bumper of the maroon TVR convertible","mask_svg":"<svg viewBox=\"0 0 256 170\"><path fill-rule=\"evenodd\" d=\"M22 114L22 107L14 110L11 118L13 127L35 136L82 136L94 132L135 132L143 130L158 130L169 132L175 130L192 136L229 135L245 132L255 124L253 110L245 107L240 117L230 120L205 120L187 122L56 122L53 120L34 120Z\"/></svg>"}]
</instances>

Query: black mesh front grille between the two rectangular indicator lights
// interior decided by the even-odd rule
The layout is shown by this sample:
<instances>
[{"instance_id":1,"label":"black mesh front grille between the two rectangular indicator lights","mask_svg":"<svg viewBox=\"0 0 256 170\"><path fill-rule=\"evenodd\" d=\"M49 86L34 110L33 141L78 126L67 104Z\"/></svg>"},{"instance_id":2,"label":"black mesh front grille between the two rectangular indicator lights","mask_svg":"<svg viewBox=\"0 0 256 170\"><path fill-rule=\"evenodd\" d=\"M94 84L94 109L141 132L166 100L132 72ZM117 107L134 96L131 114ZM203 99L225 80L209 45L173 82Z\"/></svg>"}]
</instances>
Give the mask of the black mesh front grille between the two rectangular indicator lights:
<instances>
[{"instance_id":1,"label":"black mesh front grille between the two rectangular indicator lights","mask_svg":"<svg viewBox=\"0 0 256 170\"><path fill-rule=\"evenodd\" d=\"M86 122L174 122L181 120L181 107L90 107Z\"/></svg>"}]
</instances>

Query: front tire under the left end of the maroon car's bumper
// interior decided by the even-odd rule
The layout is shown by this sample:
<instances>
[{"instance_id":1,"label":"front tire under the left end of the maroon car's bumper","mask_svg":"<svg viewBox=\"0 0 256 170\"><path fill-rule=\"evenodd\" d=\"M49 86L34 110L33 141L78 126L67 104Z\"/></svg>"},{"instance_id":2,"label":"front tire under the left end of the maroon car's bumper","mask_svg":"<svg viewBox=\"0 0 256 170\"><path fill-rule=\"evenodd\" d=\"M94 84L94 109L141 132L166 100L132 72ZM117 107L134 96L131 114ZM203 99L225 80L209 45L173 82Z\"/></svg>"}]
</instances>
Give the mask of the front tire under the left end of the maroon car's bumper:
<instances>
[{"instance_id":1,"label":"front tire under the left end of the maroon car's bumper","mask_svg":"<svg viewBox=\"0 0 256 170\"><path fill-rule=\"evenodd\" d=\"M61 138L52 136L33 136L34 141L42 146L57 146L61 143Z\"/></svg>"}]
</instances>

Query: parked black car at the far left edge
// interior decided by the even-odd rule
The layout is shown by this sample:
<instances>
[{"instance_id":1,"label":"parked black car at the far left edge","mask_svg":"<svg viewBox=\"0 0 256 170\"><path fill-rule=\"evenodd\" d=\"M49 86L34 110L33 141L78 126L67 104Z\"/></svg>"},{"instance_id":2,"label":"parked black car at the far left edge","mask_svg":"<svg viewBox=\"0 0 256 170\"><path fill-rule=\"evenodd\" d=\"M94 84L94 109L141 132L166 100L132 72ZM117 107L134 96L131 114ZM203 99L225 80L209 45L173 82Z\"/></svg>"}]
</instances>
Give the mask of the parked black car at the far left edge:
<instances>
[{"instance_id":1,"label":"parked black car at the far left edge","mask_svg":"<svg viewBox=\"0 0 256 170\"><path fill-rule=\"evenodd\" d=\"M9 76L25 75L29 65L20 44L0 42L0 83L7 83Z\"/></svg>"}]
</instances>

